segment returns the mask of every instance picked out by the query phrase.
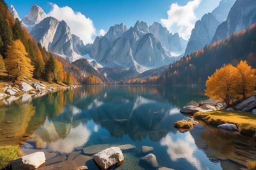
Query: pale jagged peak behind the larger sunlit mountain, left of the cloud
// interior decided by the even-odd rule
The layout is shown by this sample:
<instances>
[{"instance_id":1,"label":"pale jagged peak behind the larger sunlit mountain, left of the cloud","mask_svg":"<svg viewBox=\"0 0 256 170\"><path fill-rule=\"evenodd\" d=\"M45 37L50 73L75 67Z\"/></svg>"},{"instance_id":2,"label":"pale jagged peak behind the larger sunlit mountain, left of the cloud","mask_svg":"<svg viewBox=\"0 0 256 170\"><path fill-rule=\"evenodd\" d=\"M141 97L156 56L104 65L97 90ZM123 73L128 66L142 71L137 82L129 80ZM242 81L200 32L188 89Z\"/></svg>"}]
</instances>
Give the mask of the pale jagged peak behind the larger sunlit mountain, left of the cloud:
<instances>
[{"instance_id":1,"label":"pale jagged peak behind the larger sunlit mountain, left of the cloud","mask_svg":"<svg viewBox=\"0 0 256 170\"><path fill-rule=\"evenodd\" d=\"M37 5L32 5L29 15L26 15L22 18L22 22L27 27L27 30L30 31L32 27L38 24L46 17L46 13L43 9Z\"/></svg>"}]
</instances>

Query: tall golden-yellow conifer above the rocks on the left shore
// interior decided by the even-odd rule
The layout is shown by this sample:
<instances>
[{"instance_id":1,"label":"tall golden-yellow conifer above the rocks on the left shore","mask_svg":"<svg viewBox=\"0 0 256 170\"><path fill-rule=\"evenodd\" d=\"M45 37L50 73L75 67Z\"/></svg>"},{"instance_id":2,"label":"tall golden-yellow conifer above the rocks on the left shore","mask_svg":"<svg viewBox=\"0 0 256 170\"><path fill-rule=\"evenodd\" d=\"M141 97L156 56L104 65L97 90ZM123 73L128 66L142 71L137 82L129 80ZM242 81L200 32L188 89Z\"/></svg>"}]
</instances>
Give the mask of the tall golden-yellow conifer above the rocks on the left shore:
<instances>
[{"instance_id":1,"label":"tall golden-yellow conifer above the rocks on the left shore","mask_svg":"<svg viewBox=\"0 0 256 170\"><path fill-rule=\"evenodd\" d=\"M25 46L20 40L13 41L12 46L8 47L5 64L8 75L14 76L14 80L33 76L34 66L31 65L27 54Z\"/></svg>"}]
</instances>

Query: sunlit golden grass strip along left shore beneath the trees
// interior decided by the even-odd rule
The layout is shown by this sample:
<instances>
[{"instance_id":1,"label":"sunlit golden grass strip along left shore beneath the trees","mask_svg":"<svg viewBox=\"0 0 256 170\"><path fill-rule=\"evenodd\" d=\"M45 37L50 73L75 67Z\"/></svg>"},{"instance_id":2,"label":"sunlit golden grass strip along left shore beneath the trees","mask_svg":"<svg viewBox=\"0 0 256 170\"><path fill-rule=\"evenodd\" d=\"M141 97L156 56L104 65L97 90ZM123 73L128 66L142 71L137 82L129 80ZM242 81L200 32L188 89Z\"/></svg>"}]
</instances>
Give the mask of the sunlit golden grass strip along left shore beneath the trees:
<instances>
[{"instance_id":1,"label":"sunlit golden grass strip along left shore beneath the trees","mask_svg":"<svg viewBox=\"0 0 256 170\"><path fill-rule=\"evenodd\" d=\"M6 76L7 76L7 73L4 73L4 72L1 72L0 71L0 93L4 93L3 89L6 84L8 85L11 85L13 87L17 87L18 88L18 85L13 83L13 77L12 76L9 76L7 79L6 79ZM21 82L26 82L26 83L31 83L31 82L36 82L36 83L42 83L46 86L46 88L50 88L50 87L55 87L55 88L61 88L61 87L66 87L67 85L64 84L64 83L60 83L60 84L56 84L56 83L48 83L48 82L45 82L44 80L42 79L30 79L30 82L28 80L25 80L25 79L22 79L20 80ZM20 93L22 94L22 93ZM17 93L17 95L19 95L19 93Z\"/></svg>"}]
</instances>

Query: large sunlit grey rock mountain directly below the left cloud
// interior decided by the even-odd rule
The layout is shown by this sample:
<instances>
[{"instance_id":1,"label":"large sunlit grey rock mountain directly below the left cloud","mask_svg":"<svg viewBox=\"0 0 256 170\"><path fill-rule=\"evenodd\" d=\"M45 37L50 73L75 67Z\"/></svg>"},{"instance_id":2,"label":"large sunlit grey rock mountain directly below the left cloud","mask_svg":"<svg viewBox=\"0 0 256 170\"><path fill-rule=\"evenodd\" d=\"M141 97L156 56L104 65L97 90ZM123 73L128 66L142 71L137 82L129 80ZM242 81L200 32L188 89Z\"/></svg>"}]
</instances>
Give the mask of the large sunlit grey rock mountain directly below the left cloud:
<instances>
[{"instance_id":1,"label":"large sunlit grey rock mountain directly below the left cloud","mask_svg":"<svg viewBox=\"0 0 256 170\"><path fill-rule=\"evenodd\" d=\"M81 45L81 42L78 43L78 41L76 41L76 44L73 43L70 27L67 26L65 21L58 21L56 18L47 17L36 24L29 33L36 38L37 42L45 46L47 51L64 55L63 57L71 62L81 58L81 56L76 53L79 52L76 44ZM81 48L80 46L79 49L81 50L79 53L84 53L83 47Z\"/></svg>"}]
</instances>

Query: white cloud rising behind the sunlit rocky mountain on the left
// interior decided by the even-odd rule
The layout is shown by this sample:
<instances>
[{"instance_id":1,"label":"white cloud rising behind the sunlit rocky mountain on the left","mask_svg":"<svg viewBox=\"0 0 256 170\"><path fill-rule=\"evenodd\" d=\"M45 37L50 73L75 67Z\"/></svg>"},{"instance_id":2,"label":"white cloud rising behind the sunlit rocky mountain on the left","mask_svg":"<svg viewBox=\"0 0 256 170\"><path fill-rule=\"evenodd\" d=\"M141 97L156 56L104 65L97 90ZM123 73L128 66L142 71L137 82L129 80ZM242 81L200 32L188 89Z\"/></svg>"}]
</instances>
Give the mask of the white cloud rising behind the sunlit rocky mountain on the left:
<instances>
[{"instance_id":1,"label":"white cloud rising behind the sunlit rocky mountain on the left","mask_svg":"<svg viewBox=\"0 0 256 170\"><path fill-rule=\"evenodd\" d=\"M96 29L90 18L86 18L81 12L74 12L72 8L58 7L57 4L52 5L51 11L47 14L57 20L64 20L71 29L71 33L79 36L84 44L92 43L92 36L96 35Z\"/></svg>"}]
</instances>

